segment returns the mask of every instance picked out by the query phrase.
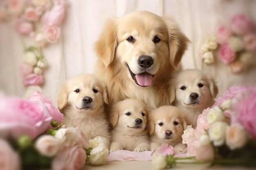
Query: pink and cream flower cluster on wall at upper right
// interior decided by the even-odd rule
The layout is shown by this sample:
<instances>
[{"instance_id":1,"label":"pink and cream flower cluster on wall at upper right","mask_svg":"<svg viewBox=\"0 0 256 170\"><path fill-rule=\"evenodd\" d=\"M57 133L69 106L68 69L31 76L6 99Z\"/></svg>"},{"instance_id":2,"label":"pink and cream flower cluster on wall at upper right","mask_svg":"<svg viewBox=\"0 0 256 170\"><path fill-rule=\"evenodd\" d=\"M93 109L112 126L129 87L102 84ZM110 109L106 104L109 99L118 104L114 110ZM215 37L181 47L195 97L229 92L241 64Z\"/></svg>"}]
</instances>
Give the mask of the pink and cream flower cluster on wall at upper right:
<instances>
[{"instance_id":1,"label":"pink and cream flower cluster on wall at upper right","mask_svg":"<svg viewBox=\"0 0 256 170\"><path fill-rule=\"evenodd\" d=\"M254 23L243 14L235 15L231 28L220 26L217 37L210 38L200 48L200 55L206 64L214 63L214 52L232 73L242 73L251 66L256 51ZM219 48L218 48L219 47Z\"/></svg>"}]
</instances>

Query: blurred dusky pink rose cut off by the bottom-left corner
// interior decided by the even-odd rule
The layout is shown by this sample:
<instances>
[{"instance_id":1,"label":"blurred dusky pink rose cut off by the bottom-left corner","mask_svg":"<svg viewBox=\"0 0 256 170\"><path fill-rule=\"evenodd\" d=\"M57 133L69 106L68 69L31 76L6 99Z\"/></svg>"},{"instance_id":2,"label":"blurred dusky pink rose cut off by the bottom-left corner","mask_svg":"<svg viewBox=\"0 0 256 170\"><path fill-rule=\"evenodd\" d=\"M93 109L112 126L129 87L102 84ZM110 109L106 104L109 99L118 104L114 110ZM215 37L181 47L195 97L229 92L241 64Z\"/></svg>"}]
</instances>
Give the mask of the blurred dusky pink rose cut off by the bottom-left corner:
<instances>
[{"instance_id":1,"label":"blurred dusky pink rose cut off by the bottom-left corner","mask_svg":"<svg viewBox=\"0 0 256 170\"><path fill-rule=\"evenodd\" d=\"M19 155L2 139L0 146L0 170L20 170Z\"/></svg>"}]
</instances>

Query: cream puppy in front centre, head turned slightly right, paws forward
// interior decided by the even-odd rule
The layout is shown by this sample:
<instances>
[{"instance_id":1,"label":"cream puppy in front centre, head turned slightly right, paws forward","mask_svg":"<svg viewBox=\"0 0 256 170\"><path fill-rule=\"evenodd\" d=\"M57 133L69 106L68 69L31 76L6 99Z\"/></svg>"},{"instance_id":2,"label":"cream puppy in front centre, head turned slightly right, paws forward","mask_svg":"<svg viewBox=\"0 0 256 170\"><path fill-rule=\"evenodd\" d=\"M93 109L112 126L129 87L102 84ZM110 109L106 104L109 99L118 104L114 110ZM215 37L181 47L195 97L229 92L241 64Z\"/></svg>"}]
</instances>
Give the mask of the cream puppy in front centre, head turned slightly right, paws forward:
<instances>
[{"instance_id":1,"label":"cream puppy in front centre, head turned slightly right, paws forward","mask_svg":"<svg viewBox=\"0 0 256 170\"><path fill-rule=\"evenodd\" d=\"M125 99L113 106L110 123L114 129L110 152L149 150L148 131L146 130L147 110L147 106L137 99Z\"/></svg>"}]
</instances>

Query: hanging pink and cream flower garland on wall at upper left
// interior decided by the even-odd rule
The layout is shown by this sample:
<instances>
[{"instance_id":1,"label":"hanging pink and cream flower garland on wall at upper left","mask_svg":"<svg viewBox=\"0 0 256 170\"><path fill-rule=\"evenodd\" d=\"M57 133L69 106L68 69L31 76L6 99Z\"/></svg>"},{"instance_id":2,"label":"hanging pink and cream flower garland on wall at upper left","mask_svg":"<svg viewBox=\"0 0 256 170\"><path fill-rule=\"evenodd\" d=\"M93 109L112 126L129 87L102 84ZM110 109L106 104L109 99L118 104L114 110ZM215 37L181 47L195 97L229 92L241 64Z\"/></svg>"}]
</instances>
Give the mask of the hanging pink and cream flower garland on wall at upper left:
<instances>
[{"instance_id":1,"label":"hanging pink and cream flower garland on wall at upper left","mask_svg":"<svg viewBox=\"0 0 256 170\"><path fill-rule=\"evenodd\" d=\"M33 40L34 46L25 47L20 66L24 86L44 83L43 69L47 62L43 48L56 43L61 34L59 28L65 17L65 0L3 0L0 2L0 21L11 20L20 35ZM22 41L23 42L23 41Z\"/></svg>"}]
</instances>

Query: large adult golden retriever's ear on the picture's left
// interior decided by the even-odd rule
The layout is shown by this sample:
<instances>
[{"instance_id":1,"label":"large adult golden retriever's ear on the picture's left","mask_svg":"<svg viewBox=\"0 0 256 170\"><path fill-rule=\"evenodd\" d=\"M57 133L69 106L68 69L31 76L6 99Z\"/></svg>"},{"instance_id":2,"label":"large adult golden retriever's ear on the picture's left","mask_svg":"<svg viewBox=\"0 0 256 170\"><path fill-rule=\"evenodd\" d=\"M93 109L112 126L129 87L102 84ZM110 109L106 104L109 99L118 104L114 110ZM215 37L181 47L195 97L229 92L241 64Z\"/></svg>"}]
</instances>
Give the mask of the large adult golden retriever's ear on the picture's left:
<instances>
[{"instance_id":1,"label":"large adult golden retriever's ear on the picture's left","mask_svg":"<svg viewBox=\"0 0 256 170\"><path fill-rule=\"evenodd\" d=\"M106 22L104 29L95 43L95 50L105 68L114 60L117 49L117 18Z\"/></svg>"}]
</instances>

